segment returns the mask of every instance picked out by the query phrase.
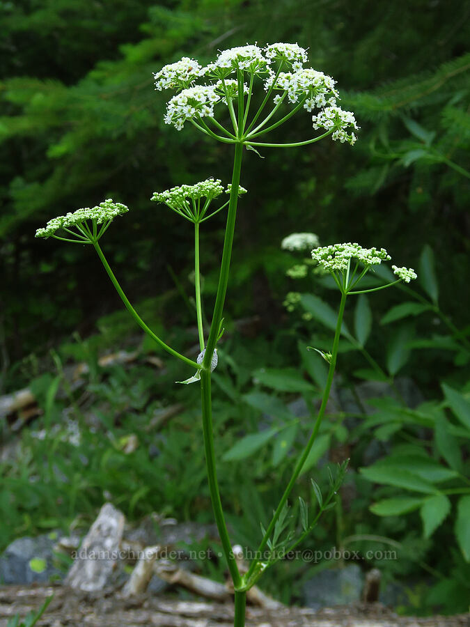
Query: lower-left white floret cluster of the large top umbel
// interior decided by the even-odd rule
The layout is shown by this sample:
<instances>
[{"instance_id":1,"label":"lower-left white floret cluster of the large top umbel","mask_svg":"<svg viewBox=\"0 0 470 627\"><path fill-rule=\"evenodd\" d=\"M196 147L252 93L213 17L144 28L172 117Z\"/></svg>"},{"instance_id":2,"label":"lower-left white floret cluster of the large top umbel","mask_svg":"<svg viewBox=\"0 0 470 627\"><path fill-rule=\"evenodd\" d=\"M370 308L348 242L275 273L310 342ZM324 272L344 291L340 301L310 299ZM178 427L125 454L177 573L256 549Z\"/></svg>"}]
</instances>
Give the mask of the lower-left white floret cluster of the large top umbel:
<instances>
[{"instance_id":1,"label":"lower-left white floret cluster of the large top umbel","mask_svg":"<svg viewBox=\"0 0 470 627\"><path fill-rule=\"evenodd\" d=\"M166 105L166 124L172 124L176 130L182 130L187 120L214 117L214 104L220 95L214 85L196 85L183 89L173 96Z\"/></svg>"}]
</instances>

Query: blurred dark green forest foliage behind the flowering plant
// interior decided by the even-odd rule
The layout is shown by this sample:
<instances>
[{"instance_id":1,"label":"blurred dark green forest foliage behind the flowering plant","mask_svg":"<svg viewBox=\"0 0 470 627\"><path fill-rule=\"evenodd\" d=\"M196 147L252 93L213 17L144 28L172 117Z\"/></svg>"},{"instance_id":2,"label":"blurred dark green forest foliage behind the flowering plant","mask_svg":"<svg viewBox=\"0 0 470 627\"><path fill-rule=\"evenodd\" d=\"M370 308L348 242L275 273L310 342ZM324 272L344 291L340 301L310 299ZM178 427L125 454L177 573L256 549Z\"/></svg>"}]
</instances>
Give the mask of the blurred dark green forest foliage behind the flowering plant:
<instances>
[{"instance_id":1,"label":"blurred dark green forest foliage behind the flowering plant","mask_svg":"<svg viewBox=\"0 0 470 627\"><path fill-rule=\"evenodd\" d=\"M204 64L245 42L298 42L314 68L336 79L361 131L354 148L326 140L265 150L264 159L244 155L249 194L240 201L214 376L235 539L258 543L259 522L308 433L324 367L305 347L329 348L337 307L324 277L286 276L299 258L280 250L282 238L310 231L322 245L385 247L420 279L412 291L351 305L334 407L309 460L319 483L328 460L350 457L350 470L338 506L309 542L364 551L395 543L397 561L360 566L405 582L403 611L466 610L470 3L0 1L0 31L0 394L29 387L40 405L32 418L2 419L0 548L77 517L89 522L107 498L130 518L164 511L211 520L198 391L173 385L191 373L155 358L90 247L34 233L105 198L127 204L104 250L143 318L194 357L193 233L150 196L208 176L227 182L233 155L191 127L164 125L166 93L154 91L152 72L181 56ZM308 116L296 116L283 137L304 139L308 128ZM223 229L219 215L203 232L206 312ZM286 311L289 292L315 297ZM136 357L99 362L118 350ZM81 387L67 375L77 362L86 364ZM155 426L175 403L178 414ZM258 432L241 453L233 449ZM127 447L131 436L136 444ZM306 498L308 477L298 489ZM222 576L223 564L204 568ZM303 602L300 584L312 567L277 568L267 589Z\"/></svg>"}]
</instances>

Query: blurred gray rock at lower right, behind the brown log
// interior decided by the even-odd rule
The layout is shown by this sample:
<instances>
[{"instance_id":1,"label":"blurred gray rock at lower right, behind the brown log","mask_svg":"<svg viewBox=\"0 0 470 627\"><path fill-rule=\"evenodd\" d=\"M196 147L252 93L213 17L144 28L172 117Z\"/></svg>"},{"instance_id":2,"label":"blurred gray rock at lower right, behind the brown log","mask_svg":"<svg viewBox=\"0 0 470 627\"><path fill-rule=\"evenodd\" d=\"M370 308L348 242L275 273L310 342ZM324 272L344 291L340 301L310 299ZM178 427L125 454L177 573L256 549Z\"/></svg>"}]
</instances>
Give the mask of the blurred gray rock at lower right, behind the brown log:
<instances>
[{"instance_id":1,"label":"blurred gray rock at lower right, behind the brown log","mask_svg":"<svg viewBox=\"0 0 470 627\"><path fill-rule=\"evenodd\" d=\"M304 583L304 603L313 610L361 600L363 575L357 564L321 571Z\"/></svg>"}]
</instances>

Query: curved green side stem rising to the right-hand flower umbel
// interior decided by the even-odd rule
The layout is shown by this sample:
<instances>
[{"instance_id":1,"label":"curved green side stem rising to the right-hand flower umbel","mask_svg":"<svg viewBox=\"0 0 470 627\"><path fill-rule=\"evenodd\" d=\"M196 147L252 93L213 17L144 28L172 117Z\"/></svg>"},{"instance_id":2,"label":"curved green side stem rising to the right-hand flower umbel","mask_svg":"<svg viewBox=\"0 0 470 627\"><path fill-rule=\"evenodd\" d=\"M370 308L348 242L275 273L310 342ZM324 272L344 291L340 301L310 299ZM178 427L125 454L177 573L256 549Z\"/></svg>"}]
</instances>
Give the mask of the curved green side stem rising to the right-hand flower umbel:
<instances>
[{"instance_id":1,"label":"curved green side stem rising to the right-hand flower umbel","mask_svg":"<svg viewBox=\"0 0 470 627\"><path fill-rule=\"evenodd\" d=\"M299 477L299 474L302 470L302 467L304 467L304 463L306 458L308 457L308 454L311 451L311 448L313 446L313 442L315 442L315 438L318 435L318 431L320 430L320 425L322 424L322 419L324 416L324 412L327 408L327 403L328 403L328 398L329 398L329 392L331 389L331 384L333 383L333 377L334 377L334 370L336 367L336 357L338 355L338 345L339 345L339 339L340 339L340 334L341 334L341 325L343 324L343 316L344 316L344 311L345 311L345 304L346 304L346 296L347 294L343 291L341 293L341 302L340 302L340 308L338 311L338 320L336 322L336 330L335 330L335 334L334 334L334 341L333 341L333 348L331 350L331 362L329 364L329 371L328 371L328 377L327 377L327 385L325 385L324 388L324 392L323 392L323 398L322 398L322 404L320 405L320 410L318 410L318 416L317 419L315 421L315 425L313 426L313 431L311 433L311 436L307 442L307 445L304 449L304 453L302 454L301 458L299 458L299 460L297 461L297 464L295 465L295 469L294 472L292 474L292 477L290 478L290 481L288 483L287 488L285 488L285 491L282 495L281 500L279 501L279 505L277 506L276 511L274 512L274 516L272 517L271 522L269 522L269 525L266 529L266 533L265 536L263 537L263 540L261 541L258 550L257 550L257 554L259 554L260 552L263 551L263 549L265 548L265 546L267 545L267 541L269 540L269 537L271 536L273 530L274 530L274 525L276 525L276 521L279 518L279 515L281 514L281 511L283 509L283 506L285 505L285 502L288 500L288 497L290 495L290 493L292 492L292 488L295 485L295 482L297 481L297 478ZM249 585L249 580L251 575L253 575L253 572L255 571L256 568L256 560L254 560L253 562L251 562L251 566L248 570L248 572L245 575L245 582Z\"/></svg>"}]
</instances>

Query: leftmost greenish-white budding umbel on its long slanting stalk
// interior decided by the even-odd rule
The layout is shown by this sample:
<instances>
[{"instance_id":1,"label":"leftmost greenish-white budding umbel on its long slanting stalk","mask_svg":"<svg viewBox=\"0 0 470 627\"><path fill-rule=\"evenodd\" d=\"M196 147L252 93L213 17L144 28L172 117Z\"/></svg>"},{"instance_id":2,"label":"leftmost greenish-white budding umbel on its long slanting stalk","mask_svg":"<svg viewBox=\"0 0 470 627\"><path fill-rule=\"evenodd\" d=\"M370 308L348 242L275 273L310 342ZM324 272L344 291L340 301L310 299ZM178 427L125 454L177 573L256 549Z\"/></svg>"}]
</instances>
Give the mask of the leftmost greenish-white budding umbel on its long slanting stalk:
<instances>
[{"instance_id":1,"label":"leftmost greenish-white budding umbel on its long slanting stalk","mask_svg":"<svg viewBox=\"0 0 470 627\"><path fill-rule=\"evenodd\" d=\"M70 229L75 226L77 227L78 233L72 233L74 235L78 235L79 238L84 238L84 229L88 230L90 233L92 232L88 229L88 226L86 225L87 220L90 220L92 222L92 225L103 224L104 222L107 222L104 228L101 229L101 232L97 234L97 238L99 238L102 233L104 233L104 229L107 229L111 221L116 216L123 215L123 213L127 213L127 211L129 211L129 209L125 205L121 203L113 203L112 199L107 199L104 202L100 203L99 206L93 208L86 207L83 209L77 209L77 211L74 211L73 213L58 215L57 217L52 218L51 220L49 220L49 222L47 222L44 229L38 229L36 231L36 237L56 237L55 233L56 231L58 231L58 229L65 229L65 231L68 231L70 233ZM84 242L77 240L77 243Z\"/></svg>"}]
</instances>

